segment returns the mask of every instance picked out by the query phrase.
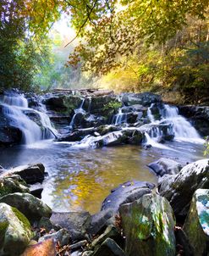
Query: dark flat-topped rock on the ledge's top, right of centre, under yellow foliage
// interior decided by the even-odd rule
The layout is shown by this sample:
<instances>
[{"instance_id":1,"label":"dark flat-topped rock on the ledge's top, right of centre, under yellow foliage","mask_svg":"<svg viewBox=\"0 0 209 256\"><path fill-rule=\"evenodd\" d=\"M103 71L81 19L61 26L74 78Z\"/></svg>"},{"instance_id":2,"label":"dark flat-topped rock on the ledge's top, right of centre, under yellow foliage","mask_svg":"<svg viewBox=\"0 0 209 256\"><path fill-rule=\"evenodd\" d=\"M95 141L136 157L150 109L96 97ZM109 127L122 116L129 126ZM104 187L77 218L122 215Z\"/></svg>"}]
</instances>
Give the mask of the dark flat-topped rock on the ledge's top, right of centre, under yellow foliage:
<instances>
[{"instance_id":1,"label":"dark flat-topped rock on the ledge's top, right of centre, under yellow foliage","mask_svg":"<svg viewBox=\"0 0 209 256\"><path fill-rule=\"evenodd\" d=\"M143 106L150 106L151 103L159 103L162 102L162 98L160 95L151 93L151 92L143 92L143 93L124 93L122 94L122 102L126 106L131 106L135 104L140 104Z\"/></svg>"}]
</instances>

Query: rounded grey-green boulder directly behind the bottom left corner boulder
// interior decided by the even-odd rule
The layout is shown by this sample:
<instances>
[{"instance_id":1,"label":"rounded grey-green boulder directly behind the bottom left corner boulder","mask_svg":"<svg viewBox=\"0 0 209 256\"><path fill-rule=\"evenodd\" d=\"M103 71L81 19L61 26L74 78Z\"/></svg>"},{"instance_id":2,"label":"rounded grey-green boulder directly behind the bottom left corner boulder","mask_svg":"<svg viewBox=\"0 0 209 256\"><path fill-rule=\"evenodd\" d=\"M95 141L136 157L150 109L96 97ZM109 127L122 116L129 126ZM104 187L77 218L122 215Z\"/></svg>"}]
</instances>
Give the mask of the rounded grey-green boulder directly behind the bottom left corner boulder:
<instances>
[{"instance_id":1,"label":"rounded grey-green boulder directly behind the bottom left corner boulder","mask_svg":"<svg viewBox=\"0 0 209 256\"><path fill-rule=\"evenodd\" d=\"M46 203L43 203L40 199L35 198L29 193L13 193L0 198L0 203L7 203L8 205L19 209L22 214L34 222L40 220L41 217L50 218L52 215L52 209L50 209Z\"/></svg>"}]
</instances>

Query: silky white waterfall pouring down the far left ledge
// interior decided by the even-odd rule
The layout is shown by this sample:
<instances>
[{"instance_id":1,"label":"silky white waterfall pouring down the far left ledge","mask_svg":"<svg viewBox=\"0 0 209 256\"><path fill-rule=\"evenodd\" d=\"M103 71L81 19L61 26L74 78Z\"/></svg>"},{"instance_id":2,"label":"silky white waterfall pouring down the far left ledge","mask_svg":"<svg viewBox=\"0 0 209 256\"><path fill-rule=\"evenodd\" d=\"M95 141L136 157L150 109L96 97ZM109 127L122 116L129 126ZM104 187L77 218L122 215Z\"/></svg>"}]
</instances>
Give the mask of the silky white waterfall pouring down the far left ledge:
<instances>
[{"instance_id":1,"label":"silky white waterfall pouring down the far left ledge","mask_svg":"<svg viewBox=\"0 0 209 256\"><path fill-rule=\"evenodd\" d=\"M31 144L56 136L57 131L52 127L49 117L35 109L28 107L28 101L24 95L12 93L5 95L1 103L3 114L8 118L10 125L22 131L22 143ZM37 125L28 115L38 116Z\"/></svg>"}]
</instances>

